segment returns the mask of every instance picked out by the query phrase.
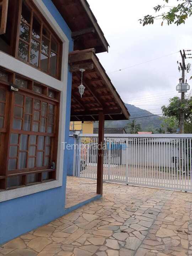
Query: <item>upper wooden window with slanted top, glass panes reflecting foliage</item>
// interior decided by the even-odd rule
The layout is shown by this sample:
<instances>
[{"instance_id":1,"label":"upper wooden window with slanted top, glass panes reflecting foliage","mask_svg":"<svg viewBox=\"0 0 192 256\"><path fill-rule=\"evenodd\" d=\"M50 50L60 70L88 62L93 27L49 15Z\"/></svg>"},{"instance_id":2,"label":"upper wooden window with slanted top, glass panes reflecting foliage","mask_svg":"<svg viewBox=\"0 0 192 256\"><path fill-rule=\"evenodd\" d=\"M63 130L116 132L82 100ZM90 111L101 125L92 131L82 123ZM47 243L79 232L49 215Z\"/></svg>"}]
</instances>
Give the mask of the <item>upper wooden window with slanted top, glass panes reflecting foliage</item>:
<instances>
[{"instance_id":1,"label":"upper wooden window with slanted top, glass panes reflecting foliage","mask_svg":"<svg viewBox=\"0 0 192 256\"><path fill-rule=\"evenodd\" d=\"M61 42L31 1L22 1L18 40L18 58L59 78Z\"/></svg>"}]
</instances>

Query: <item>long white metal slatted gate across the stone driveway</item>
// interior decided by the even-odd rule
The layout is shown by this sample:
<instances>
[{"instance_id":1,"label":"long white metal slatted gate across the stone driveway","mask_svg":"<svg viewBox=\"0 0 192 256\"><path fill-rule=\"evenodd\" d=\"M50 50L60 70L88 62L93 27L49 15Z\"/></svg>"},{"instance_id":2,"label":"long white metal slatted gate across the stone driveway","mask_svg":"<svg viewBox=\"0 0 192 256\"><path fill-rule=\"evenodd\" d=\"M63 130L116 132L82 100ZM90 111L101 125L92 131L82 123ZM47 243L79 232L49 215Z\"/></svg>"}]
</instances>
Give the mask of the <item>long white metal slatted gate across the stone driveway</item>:
<instances>
[{"instance_id":1,"label":"long white metal slatted gate across the stone driveway","mask_svg":"<svg viewBox=\"0 0 192 256\"><path fill-rule=\"evenodd\" d=\"M192 191L192 134L106 134L103 180ZM97 178L97 134L79 134L74 176Z\"/></svg>"}]
</instances>

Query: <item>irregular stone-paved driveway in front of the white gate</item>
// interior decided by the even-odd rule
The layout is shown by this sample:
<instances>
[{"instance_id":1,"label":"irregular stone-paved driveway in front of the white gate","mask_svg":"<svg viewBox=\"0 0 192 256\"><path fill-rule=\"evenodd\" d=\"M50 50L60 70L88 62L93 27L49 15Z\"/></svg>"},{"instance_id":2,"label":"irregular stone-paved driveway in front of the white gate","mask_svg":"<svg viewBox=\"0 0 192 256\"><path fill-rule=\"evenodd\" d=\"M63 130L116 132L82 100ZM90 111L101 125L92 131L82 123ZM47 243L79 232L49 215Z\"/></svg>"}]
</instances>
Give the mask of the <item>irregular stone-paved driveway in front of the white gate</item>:
<instances>
[{"instance_id":1,"label":"irregular stone-paved driveway in front of the white gate","mask_svg":"<svg viewBox=\"0 0 192 256\"><path fill-rule=\"evenodd\" d=\"M0 256L192 255L192 194L104 183L103 198L0 247Z\"/></svg>"}]
</instances>

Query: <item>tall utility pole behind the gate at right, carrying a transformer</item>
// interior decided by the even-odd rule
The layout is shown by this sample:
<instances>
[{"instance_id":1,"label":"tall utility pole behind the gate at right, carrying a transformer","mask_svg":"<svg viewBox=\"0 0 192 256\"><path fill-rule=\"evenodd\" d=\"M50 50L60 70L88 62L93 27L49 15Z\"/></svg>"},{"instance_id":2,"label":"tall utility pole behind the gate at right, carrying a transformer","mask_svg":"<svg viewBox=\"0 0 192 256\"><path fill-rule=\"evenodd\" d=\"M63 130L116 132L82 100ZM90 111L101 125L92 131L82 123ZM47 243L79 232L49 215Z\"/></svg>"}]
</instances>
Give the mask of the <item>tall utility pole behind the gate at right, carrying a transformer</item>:
<instances>
[{"instance_id":1,"label":"tall utility pole behind the gate at right, carrying a transformer","mask_svg":"<svg viewBox=\"0 0 192 256\"><path fill-rule=\"evenodd\" d=\"M185 50L182 51L180 50L180 54L181 54L181 58L182 58L182 64L180 62L180 66L181 66L181 70L182 70L182 83L185 83L185 70L186 70L186 65L185 65L185 59L186 59L186 55L185 55ZM182 86L181 86L181 90L182 90ZM181 92L181 102L185 100L185 92ZM180 133L184 133L184 120L185 120L185 114L182 111L180 113Z\"/></svg>"}]
</instances>

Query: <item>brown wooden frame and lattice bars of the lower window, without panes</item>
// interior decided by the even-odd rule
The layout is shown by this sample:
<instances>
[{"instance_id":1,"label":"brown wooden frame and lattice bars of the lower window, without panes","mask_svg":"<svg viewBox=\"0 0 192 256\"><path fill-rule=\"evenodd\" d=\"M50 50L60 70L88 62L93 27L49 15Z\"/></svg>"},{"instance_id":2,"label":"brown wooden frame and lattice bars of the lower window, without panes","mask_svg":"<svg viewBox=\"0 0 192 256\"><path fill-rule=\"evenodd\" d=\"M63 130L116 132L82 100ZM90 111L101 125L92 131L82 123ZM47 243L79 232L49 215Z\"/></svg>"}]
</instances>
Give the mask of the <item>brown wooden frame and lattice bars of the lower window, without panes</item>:
<instances>
[{"instance_id":1,"label":"brown wooden frame and lattice bars of the lower window, without panes","mask_svg":"<svg viewBox=\"0 0 192 256\"><path fill-rule=\"evenodd\" d=\"M6 71L7 72L7 71ZM15 78L16 78L16 74L15 73L8 73L9 75L9 81L11 83L14 84ZM17 75L18 76L18 75ZM14 189L14 188L18 188L18 187L22 187L22 186L29 186L29 185L34 185L37 183L44 183L44 182L48 182L48 181L53 181L56 179L56 171L57 171L57 149L58 149L58 132L59 132L59 106L60 106L60 92L50 88L50 90L54 91L54 93L57 95L57 99L56 98L52 98L48 96L48 91L49 91L49 87L45 86L45 85L41 85L39 84L39 86L42 86L43 90L42 93L43 94L38 94L37 92L32 91L32 87L33 87L33 83L34 81L31 79L27 79L24 78L22 76L19 76L21 79L25 79L28 81L29 84L29 88L25 89L25 88L20 88L18 94L21 94L25 97L31 97L33 98L33 102L34 99L40 100L42 102L46 102L47 103L47 114L46 114L46 118L48 120L48 115L49 115L49 104L52 104L55 106L54 108L54 130L53 133L48 133L47 130L46 132L40 132L40 125L39 125L39 130L38 132L32 132L31 129L30 131L25 131L25 130L15 130L12 128L12 122L14 119L14 94L15 92L9 92L9 82L0 81L0 87L2 88L6 88L6 92L7 92L7 96L8 98L6 98L6 111L7 113L5 114L5 121L4 121L4 127L0 128L0 144L2 144L2 146L0 146L0 163L3 165L3 168L1 169L1 173L0 173L0 191L1 190L10 190L10 189ZM9 94L9 96L8 96ZM11 106L11 107L8 107ZM25 101L23 102L23 108L25 108ZM32 114L33 114L34 108L32 105ZM40 108L41 111L41 108ZM22 115L22 119L24 118L24 113L25 111L23 110L23 115ZM39 122L41 115L39 117ZM48 126L47 122L47 126ZM9 124L9 125L8 125ZM46 126L46 127L47 127ZM32 121L31 121L31 127L32 127ZM10 146L11 146L11 142L10 142L10 137L12 133L16 133L19 134L18 138L20 139L21 134L26 134L28 135L28 146L27 146L27 150L25 151L27 153L27 160L30 158L30 156L28 155L28 150L29 147L31 146L31 144L29 144L29 135L37 135L38 136L44 136L44 146L43 146L43 150L38 150L37 149L37 140L36 140L36 155L38 151L43 151L43 165L44 165L44 158L47 156L50 156L49 158L49 166L42 166L42 167L34 167L29 169L28 166L26 166L25 169L15 169L15 170L8 170L8 165L9 165L9 151L10 151ZM50 138L54 138L54 143L53 143L53 139L51 139L51 144L46 144L46 136L50 137ZM20 146L20 141L18 139L18 144L14 144L14 146L17 146L17 162L18 162L18 154L19 152L24 152L23 150L20 150L19 146ZM46 146L48 146L50 148L49 151L49 155L46 154ZM3 148L3 150L2 150ZM55 169L51 169L50 168L50 161L54 161L56 164L56 168ZM27 164L27 163L26 163ZM18 163L17 163L17 167L18 167ZM2 171L3 170L3 171ZM43 173L47 173L48 178L47 179L43 179ZM38 180L37 182L34 183L27 183L27 175L29 174L37 174ZM7 187L7 180L10 177L19 177L21 184L20 186L16 186L16 187Z\"/></svg>"}]
</instances>

